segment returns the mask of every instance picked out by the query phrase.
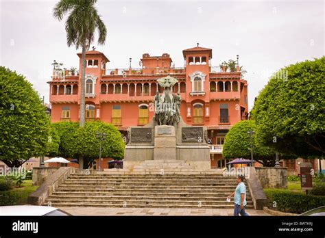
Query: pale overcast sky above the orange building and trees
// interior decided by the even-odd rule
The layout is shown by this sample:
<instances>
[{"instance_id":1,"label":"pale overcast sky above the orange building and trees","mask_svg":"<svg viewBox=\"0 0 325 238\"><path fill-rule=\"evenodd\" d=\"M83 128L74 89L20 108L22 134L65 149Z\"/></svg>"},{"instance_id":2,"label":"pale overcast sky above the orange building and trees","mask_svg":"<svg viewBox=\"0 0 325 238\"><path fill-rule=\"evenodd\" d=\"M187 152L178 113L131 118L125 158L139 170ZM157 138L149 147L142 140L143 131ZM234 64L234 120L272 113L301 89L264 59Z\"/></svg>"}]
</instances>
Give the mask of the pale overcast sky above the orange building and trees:
<instances>
[{"instance_id":1,"label":"pale overcast sky above the orange building and trees","mask_svg":"<svg viewBox=\"0 0 325 238\"><path fill-rule=\"evenodd\" d=\"M0 0L0 65L27 77L49 101L51 63L78 66L81 49L67 47L58 1ZM184 66L182 50L213 49L211 64L236 59L248 72L250 109L268 78L282 66L324 55L324 1L97 1L108 29L108 68L139 67L143 53L169 53Z\"/></svg>"}]
</instances>

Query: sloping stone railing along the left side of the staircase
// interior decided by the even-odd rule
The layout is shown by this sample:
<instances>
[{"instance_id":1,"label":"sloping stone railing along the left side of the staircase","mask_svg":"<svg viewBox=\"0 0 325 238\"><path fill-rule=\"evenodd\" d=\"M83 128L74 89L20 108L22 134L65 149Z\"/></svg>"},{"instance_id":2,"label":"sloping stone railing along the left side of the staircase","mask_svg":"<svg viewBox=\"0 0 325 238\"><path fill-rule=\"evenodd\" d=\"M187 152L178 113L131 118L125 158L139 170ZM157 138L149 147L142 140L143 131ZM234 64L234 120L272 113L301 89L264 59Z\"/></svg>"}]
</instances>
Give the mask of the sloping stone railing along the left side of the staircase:
<instances>
[{"instance_id":1,"label":"sloping stone railing along the left side of the staircase","mask_svg":"<svg viewBox=\"0 0 325 238\"><path fill-rule=\"evenodd\" d=\"M36 191L28 196L27 202L32 205L42 205L45 200L51 196L53 191L56 191L63 181L74 172L75 168L73 167L59 168L56 172L51 174Z\"/></svg>"}]
</instances>

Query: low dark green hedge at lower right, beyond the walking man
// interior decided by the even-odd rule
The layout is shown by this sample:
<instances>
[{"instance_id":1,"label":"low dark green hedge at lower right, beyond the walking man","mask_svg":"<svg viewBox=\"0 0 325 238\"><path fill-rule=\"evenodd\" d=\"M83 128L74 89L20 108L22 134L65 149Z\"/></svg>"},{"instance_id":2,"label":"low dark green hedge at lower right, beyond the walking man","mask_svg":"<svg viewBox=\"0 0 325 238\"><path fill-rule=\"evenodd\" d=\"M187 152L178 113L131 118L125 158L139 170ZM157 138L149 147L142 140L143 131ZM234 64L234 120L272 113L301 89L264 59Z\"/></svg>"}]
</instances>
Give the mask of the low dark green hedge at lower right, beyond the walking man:
<instances>
[{"instance_id":1,"label":"low dark green hedge at lower right, beyond the walking man","mask_svg":"<svg viewBox=\"0 0 325 238\"><path fill-rule=\"evenodd\" d=\"M282 189L265 189L271 208L276 202L276 210L289 213L304 213L325 205L325 196L306 195Z\"/></svg>"}]
</instances>

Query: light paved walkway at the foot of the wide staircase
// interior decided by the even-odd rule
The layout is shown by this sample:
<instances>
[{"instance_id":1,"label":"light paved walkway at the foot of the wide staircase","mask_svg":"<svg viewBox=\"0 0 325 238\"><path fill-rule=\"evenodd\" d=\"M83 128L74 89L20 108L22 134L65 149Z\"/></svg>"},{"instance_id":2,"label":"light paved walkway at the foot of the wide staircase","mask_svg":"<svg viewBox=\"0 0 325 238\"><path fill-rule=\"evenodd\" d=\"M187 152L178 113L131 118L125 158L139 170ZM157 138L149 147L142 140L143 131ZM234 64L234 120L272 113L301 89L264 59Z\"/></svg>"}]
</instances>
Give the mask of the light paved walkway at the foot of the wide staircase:
<instances>
[{"instance_id":1,"label":"light paved walkway at the foot of the wide staircase","mask_svg":"<svg viewBox=\"0 0 325 238\"><path fill-rule=\"evenodd\" d=\"M106 207L59 207L72 215L233 215L233 209L145 209ZM269 215L264 211L248 209L250 215Z\"/></svg>"}]
</instances>

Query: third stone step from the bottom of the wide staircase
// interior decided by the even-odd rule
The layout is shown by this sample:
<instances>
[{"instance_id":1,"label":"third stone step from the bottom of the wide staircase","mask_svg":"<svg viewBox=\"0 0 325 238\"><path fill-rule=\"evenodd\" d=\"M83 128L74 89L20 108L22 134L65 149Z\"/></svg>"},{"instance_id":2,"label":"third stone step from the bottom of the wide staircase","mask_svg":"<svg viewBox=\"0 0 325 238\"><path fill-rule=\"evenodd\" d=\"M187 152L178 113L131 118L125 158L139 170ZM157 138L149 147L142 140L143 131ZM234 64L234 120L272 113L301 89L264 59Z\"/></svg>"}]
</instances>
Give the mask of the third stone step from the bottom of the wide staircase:
<instances>
[{"instance_id":1,"label":"third stone step from the bottom of the wide staircase","mask_svg":"<svg viewBox=\"0 0 325 238\"><path fill-rule=\"evenodd\" d=\"M126 194L126 193L125 193ZM229 192L225 192L225 191L218 191L217 193L213 192L213 193L197 193L197 192L193 192L193 193L189 193L189 192L181 192L181 193L132 193L131 197L140 197L140 196L152 196L152 197L169 197L169 198L178 198L178 197L213 197L213 196L221 196L221 197L227 197L230 193ZM55 196L94 196L94 193L92 192L82 192L82 191L55 191L53 193L53 195ZM121 192L107 192L107 191L101 191L99 194L100 196L116 196L116 197L125 197L128 196L128 194L123 195L123 193ZM246 194L246 198L250 198L250 194Z\"/></svg>"}]
</instances>

